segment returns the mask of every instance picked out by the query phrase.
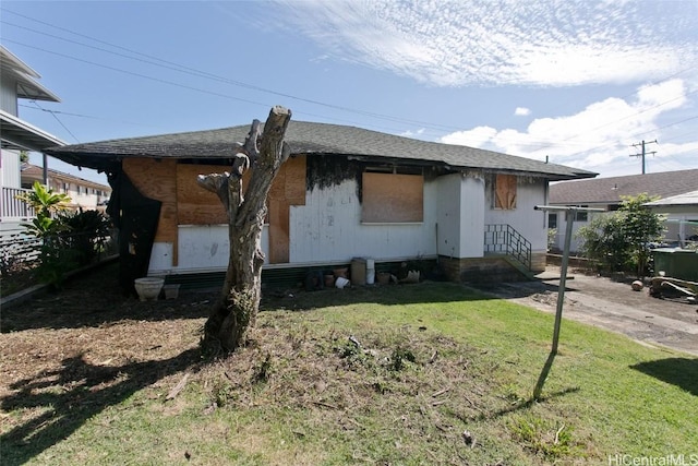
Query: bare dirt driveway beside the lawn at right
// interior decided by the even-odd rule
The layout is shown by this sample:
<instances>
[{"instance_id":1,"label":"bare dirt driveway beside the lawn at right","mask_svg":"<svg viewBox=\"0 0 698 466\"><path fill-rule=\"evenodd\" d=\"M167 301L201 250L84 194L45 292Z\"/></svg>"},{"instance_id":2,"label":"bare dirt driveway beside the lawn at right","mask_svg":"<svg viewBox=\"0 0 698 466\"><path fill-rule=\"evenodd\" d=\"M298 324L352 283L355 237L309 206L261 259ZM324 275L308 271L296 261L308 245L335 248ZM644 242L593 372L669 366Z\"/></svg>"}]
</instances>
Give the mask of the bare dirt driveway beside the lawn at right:
<instances>
[{"instance_id":1,"label":"bare dirt driveway beside the lawn at right","mask_svg":"<svg viewBox=\"0 0 698 466\"><path fill-rule=\"evenodd\" d=\"M496 284L482 288L497 297L555 312L559 267L549 266L540 282ZM648 288L634 291L633 278L603 277L571 268L567 275L563 315L640 343L659 344L698 355L698 304L681 296L651 297Z\"/></svg>"}]
</instances>

